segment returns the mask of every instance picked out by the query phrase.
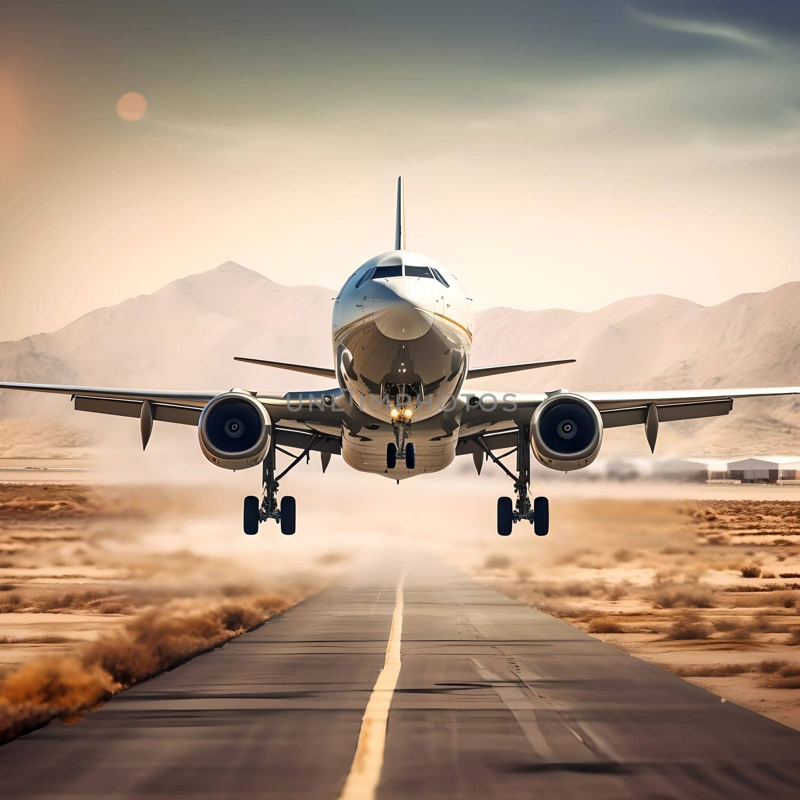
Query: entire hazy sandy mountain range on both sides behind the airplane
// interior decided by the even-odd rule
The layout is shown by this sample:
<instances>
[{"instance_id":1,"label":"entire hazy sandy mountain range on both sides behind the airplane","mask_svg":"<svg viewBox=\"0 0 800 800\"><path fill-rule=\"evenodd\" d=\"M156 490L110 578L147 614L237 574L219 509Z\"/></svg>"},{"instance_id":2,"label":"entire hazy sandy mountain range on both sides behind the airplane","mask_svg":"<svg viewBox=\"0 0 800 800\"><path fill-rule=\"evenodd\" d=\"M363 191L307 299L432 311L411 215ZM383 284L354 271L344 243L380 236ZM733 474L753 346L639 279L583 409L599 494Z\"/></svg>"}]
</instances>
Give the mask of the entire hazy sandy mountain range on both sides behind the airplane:
<instances>
[{"instance_id":1,"label":"entire hazy sandy mountain range on both sides behind the airplane","mask_svg":"<svg viewBox=\"0 0 800 800\"><path fill-rule=\"evenodd\" d=\"M0 343L0 378L174 389L319 388L324 379L233 357L332 366L334 294L318 286L283 286L226 262L92 311L54 333ZM486 383L503 391L797 385L798 308L800 282L707 307L655 294L588 313L492 308L478 314L472 363L578 359ZM68 408L64 398L0 393L6 417ZM671 426L662 442L694 453L794 453L800 452L798 425L796 400L739 402L728 418ZM612 440L636 452L645 448L639 430L614 431L607 438Z\"/></svg>"}]
</instances>

